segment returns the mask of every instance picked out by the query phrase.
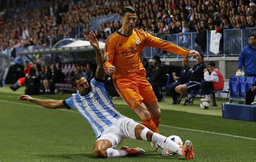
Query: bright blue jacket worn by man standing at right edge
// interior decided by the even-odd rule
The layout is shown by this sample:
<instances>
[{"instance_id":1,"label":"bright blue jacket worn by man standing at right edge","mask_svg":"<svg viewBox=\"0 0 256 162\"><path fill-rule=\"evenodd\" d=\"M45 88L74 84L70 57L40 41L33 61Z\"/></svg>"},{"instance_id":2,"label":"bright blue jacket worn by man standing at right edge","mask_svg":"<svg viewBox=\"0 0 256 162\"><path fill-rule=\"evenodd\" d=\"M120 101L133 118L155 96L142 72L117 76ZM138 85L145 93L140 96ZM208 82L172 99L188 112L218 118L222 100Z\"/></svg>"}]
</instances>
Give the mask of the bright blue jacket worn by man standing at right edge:
<instances>
[{"instance_id":1,"label":"bright blue jacket worn by man standing at right edge","mask_svg":"<svg viewBox=\"0 0 256 162\"><path fill-rule=\"evenodd\" d=\"M256 50L250 44L243 47L238 59L238 69L245 67L245 74L256 74Z\"/></svg>"}]
</instances>

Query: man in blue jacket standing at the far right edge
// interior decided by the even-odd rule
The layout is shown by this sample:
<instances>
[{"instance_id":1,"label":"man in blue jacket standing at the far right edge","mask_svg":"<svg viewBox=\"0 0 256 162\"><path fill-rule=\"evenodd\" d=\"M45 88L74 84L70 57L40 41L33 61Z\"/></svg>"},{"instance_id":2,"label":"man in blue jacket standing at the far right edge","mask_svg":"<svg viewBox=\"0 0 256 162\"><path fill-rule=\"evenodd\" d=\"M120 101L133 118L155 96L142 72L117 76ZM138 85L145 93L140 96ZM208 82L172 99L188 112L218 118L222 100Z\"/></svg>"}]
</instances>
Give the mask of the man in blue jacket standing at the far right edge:
<instances>
[{"instance_id":1,"label":"man in blue jacket standing at the far right edge","mask_svg":"<svg viewBox=\"0 0 256 162\"><path fill-rule=\"evenodd\" d=\"M255 35L249 35L249 44L243 47L238 59L238 70L245 67L245 74L247 76L256 77L256 50L255 50Z\"/></svg>"}]
</instances>

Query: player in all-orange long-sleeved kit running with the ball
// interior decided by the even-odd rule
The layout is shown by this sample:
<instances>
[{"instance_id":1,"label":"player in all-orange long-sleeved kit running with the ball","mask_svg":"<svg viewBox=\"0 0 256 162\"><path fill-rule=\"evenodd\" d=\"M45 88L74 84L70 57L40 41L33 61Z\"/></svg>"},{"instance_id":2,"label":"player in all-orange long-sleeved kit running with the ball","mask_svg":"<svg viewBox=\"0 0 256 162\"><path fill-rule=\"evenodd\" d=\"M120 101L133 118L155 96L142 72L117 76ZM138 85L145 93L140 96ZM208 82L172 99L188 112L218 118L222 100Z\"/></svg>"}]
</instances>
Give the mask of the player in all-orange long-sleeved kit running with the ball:
<instances>
[{"instance_id":1,"label":"player in all-orange long-sleeved kit running with the ball","mask_svg":"<svg viewBox=\"0 0 256 162\"><path fill-rule=\"evenodd\" d=\"M144 126L158 133L161 111L139 59L144 46L154 46L185 57L199 56L199 53L135 29L136 17L134 7L122 9L122 27L106 40L103 67L106 73L113 75L115 89L142 119ZM152 147L157 150L157 145L152 143Z\"/></svg>"}]
</instances>

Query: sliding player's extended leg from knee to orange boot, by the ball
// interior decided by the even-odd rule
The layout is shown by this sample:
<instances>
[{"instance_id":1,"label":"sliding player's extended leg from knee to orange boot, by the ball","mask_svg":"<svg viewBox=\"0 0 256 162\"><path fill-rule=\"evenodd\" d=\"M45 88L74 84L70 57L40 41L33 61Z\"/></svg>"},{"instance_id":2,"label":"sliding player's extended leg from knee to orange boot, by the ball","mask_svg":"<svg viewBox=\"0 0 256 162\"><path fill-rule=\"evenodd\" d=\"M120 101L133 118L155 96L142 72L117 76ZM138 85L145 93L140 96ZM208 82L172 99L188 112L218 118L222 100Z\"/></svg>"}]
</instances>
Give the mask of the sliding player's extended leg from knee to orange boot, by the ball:
<instances>
[{"instance_id":1,"label":"sliding player's extended leg from knee to orange boot, by the ball","mask_svg":"<svg viewBox=\"0 0 256 162\"><path fill-rule=\"evenodd\" d=\"M185 158L190 159L194 158L193 146L192 143L187 140L183 148L181 148L177 143L173 142L171 139L167 138L164 135L154 133L148 128L145 128L141 124L138 124L135 127L135 138L138 140L146 140L150 142L155 142L162 148L173 151L179 155L183 155Z\"/></svg>"}]
</instances>

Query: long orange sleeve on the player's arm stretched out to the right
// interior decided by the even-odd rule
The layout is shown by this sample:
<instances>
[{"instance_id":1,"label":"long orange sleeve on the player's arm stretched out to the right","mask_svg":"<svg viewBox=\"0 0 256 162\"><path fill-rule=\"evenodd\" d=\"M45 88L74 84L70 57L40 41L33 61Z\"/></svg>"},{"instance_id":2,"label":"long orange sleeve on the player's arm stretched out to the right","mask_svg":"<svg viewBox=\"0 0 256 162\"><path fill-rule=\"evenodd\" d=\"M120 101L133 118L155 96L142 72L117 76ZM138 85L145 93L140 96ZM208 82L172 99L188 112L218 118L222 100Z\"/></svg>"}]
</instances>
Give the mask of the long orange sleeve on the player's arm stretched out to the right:
<instances>
[{"instance_id":1,"label":"long orange sleeve on the player's arm stretched out to the right","mask_svg":"<svg viewBox=\"0 0 256 162\"><path fill-rule=\"evenodd\" d=\"M144 32L144 31L143 31ZM172 42L161 40L147 32L145 34L145 46L153 46L171 53L188 57L190 49L180 47Z\"/></svg>"}]
</instances>

